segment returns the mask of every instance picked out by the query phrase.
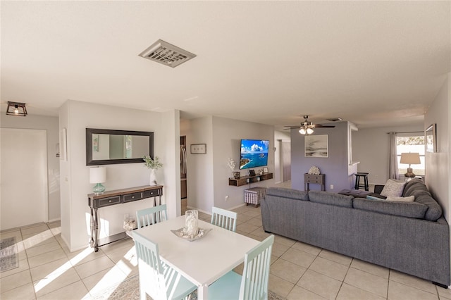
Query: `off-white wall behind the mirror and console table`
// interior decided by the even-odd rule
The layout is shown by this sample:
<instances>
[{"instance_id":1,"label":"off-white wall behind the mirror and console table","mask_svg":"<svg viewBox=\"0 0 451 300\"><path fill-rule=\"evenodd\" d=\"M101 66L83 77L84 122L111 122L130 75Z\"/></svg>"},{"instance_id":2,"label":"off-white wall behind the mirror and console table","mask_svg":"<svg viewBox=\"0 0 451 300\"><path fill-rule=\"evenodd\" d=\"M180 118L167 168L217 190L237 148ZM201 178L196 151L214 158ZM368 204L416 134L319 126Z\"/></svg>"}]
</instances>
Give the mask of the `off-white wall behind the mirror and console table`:
<instances>
[{"instance_id":1,"label":"off-white wall behind the mirror and console table","mask_svg":"<svg viewBox=\"0 0 451 300\"><path fill-rule=\"evenodd\" d=\"M162 202L168 204L168 214L176 215L180 206L180 166L175 161L175 132L178 114L175 111L155 113L116 106L67 101L61 106L60 128L67 129L68 161L61 162L61 237L70 251L82 249L89 241L89 206L87 194L92 192L89 183L89 166L86 165L85 129L102 128L154 132L154 155L159 156L163 168L159 170L163 188ZM149 170L144 163L127 163L106 166L106 190L149 185ZM175 178L178 177L178 180ZM177 183L178 182L178 183ZM178 190L177 190L178 189ZM125 214L153 205L152 199L99 209L99 235L106 237L123 232Z\"/></svg>"}]
</instances>

